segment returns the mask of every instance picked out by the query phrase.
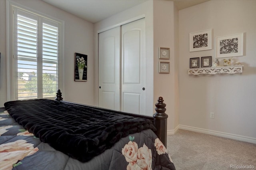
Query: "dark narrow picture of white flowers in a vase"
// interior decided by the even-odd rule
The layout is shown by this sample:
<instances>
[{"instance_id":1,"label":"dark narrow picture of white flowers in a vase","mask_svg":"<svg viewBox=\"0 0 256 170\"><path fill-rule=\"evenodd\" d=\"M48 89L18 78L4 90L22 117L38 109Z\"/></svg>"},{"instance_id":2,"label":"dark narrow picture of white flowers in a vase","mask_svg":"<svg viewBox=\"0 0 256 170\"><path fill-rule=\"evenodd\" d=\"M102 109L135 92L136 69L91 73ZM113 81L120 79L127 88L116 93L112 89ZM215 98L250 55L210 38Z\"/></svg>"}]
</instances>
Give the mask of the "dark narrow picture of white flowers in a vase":
<instances>
[{"instance_id":1,"label":"dark narrow picture of white flowers in a vase","mask_svg":"<svg viewBox=\"0 0 256 170\"><path fill-rule=\"evenodd\" d=\"M75 81L87 81L87 55L75 53Z\"/></svg>"}]
</instances>

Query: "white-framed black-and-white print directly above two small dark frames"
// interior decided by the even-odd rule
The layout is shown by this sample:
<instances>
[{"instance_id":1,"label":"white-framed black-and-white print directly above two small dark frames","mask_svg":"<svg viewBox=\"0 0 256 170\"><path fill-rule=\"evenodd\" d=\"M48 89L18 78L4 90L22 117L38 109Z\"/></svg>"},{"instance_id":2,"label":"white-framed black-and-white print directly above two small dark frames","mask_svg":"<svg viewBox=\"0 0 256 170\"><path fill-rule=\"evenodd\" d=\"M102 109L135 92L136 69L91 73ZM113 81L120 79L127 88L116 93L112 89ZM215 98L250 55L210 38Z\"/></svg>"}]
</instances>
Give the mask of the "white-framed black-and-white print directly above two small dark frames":
<instances>
[{"instance_id":1,"label":"white-framed black-and-white print directly above two small dark frames","mask_svg":"<svg viewBox=\"0 0 256 170\"><path fill-rule=\"evenodd\" d=\"M189 33L189 51L212 49L212 29Z\"/></svg>"}]
</instances>

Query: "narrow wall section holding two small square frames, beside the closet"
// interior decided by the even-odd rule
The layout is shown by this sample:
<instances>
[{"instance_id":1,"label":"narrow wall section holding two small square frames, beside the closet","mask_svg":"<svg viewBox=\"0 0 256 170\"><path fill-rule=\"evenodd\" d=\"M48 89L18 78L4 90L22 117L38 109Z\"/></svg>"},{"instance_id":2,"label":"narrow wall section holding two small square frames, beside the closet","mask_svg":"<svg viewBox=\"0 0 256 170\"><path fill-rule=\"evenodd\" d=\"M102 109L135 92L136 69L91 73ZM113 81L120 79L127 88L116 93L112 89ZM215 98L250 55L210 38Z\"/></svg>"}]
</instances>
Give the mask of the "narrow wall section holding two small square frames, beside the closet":
<instances>
[{"instance_id":1,"label":"narrow wall section holding two small square frames, beside the closet","mask_svg":"<svg viewBox=\"0 0 256 170\"><path fill-rule=\"evenodd\" d=\"M167 130L174 133L178 126L178 45L175 37L174 3L154 1L154 99L163 97L168 114ZM178 11L176 10L176 14ZM170 59L159 59L159 47L170 48ZM170 73L159 73L159 61L170 62ZM155 102L156 103L156 102Z\"/></svg>"}]
</instances>

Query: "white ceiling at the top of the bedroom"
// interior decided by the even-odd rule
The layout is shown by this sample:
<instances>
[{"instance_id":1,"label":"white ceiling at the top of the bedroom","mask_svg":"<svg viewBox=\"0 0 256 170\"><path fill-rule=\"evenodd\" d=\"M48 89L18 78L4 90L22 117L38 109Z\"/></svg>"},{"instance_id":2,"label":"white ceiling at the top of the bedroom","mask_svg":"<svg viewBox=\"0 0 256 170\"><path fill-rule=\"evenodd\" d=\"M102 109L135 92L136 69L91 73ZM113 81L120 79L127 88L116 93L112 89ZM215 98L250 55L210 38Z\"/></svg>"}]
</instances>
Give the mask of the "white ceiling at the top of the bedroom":
<instances>
[{"instance_id":1,"label":"white ceiling at the top of the bedroom","mask_svg":"<svg viewBox=\"0 0 256 170\"><path fill-rule=\"evenodd\" d=\"M114 14L141 4L147 0L43 0L57 8L74 14L92 23L104 20ZM208 0L170 0L178 10Z\"/></svg>"}]
</instances>

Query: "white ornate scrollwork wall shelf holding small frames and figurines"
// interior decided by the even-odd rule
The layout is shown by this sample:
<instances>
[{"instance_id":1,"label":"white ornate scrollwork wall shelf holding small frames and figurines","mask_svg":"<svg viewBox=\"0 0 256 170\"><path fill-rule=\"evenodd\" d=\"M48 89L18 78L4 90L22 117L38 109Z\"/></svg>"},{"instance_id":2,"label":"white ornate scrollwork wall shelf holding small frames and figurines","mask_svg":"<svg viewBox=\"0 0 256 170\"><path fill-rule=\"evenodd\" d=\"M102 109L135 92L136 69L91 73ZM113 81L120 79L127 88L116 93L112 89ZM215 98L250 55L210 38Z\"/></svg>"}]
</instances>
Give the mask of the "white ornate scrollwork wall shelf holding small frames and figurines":
<instances>
[{"instance_id":1,"label":"white ornate scrollwork wall shelf holding small frames and figurines","mask_svg":"<svg viewBox=\"0 0 256 170\"><path fill-rule=\"evenodd\" d=\"M188 69L189 75L217 74L217 73L234 74L234 73L242 73L242 72L243 72L243 65Z\"/></svg>"}]
</instances>

